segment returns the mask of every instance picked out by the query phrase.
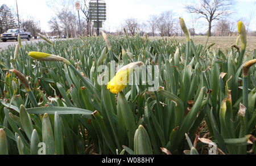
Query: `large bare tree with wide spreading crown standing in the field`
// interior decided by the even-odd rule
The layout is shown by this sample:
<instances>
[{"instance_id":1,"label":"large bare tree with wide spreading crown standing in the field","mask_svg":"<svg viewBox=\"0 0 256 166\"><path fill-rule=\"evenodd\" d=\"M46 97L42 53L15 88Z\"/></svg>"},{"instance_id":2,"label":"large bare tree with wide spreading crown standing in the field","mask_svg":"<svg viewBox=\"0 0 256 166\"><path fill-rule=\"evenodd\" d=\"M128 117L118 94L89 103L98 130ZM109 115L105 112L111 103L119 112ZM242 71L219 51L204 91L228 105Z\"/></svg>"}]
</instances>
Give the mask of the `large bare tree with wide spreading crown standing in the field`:
<instances>
[{"instance_id":1,"label":"large bare tree with wide spreading crown standing in the field","mask_svg":"<svg viewBox=\"0 0 256 166\"><path fill-rule=\"evenodd\" d=\"M233 0L201 0L200 5L185 5L189 13L196 13L207 19L209 27L209 36L213 27L213 20L225 18L230 13L230 7L233 5Z\"/></svg>"}]
</instances>

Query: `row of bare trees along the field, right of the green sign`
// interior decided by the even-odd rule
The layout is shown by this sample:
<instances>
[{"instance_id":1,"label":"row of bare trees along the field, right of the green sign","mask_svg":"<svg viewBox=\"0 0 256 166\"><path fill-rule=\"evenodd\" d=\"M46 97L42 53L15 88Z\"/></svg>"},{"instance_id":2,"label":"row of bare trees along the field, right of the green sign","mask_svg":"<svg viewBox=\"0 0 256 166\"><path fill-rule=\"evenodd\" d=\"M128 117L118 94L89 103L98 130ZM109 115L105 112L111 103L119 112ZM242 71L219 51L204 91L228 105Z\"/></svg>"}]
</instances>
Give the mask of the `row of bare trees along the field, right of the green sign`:
<instances>
[{"instance_id":1,"label":"row of bare trees along the field, right of the green sign","mask_svg":"<svg viewBox=\"0 0 256 166\"><path fill-rule=\"evenodd\" d=\"M233 36L236 35L237 22L245 23L247 35L256 36L256 31L250 31L251 18L232 19L231 12L233 0L201 0L200 4L185 5L185 10L191 15L189 33L191 36ZM203 21L203 22L202 22ZM196 33L197 28L207 22L205 32ZM124 21L123 27L130 35L145 33L149 36L182 36L179 17L172 11L164 11L160 15L151 15L147 22L139 22L137 19L129 18ZM122 32L121 30L118 33Z\"/></svg>"}]
</instances>

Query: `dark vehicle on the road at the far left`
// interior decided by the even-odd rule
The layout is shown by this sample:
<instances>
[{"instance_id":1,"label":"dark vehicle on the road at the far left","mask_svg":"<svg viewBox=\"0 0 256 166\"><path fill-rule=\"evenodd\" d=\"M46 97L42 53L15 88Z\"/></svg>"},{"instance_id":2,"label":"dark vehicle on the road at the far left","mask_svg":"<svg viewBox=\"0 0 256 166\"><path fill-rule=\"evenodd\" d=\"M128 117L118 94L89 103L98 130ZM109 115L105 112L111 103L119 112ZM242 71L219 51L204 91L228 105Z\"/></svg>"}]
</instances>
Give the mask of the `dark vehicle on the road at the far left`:
<instances>
[{"instance_id":1,"label":"dark vehicle on the road at the far left","mask_svg":"<svg viewBox=\"0 0 256 166\"><path fill-rule=\"evenodd\" d=\"M9 29L7 32L1 34L1 40L6 42L7 40L16 40L18 41L18 35L20 39L31 39L31 33L25 32L23 29Z\"/></svg>"}]
</instances>

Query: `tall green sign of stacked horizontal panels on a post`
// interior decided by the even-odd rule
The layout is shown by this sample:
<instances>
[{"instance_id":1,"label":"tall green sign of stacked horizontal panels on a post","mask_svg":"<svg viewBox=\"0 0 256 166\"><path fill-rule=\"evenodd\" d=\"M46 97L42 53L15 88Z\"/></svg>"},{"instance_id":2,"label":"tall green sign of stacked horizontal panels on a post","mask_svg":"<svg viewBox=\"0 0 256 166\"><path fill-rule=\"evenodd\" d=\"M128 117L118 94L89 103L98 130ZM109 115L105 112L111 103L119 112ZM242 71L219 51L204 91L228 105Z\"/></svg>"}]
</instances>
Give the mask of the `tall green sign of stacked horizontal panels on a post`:
<instances>
[{"instance_id":1,"label":"tall green sign of stacked horizontal panels on a post","mask_svg":"<svg viewBox=\"0 0 256 166\"><path fill-rule=\"evenodd\" d=\"M102 22L106 20L106 3L99 0L89 2L89 18L94 22L93 27L97 28L97 36L100 35Z\"/></svg>"}]
</instances>

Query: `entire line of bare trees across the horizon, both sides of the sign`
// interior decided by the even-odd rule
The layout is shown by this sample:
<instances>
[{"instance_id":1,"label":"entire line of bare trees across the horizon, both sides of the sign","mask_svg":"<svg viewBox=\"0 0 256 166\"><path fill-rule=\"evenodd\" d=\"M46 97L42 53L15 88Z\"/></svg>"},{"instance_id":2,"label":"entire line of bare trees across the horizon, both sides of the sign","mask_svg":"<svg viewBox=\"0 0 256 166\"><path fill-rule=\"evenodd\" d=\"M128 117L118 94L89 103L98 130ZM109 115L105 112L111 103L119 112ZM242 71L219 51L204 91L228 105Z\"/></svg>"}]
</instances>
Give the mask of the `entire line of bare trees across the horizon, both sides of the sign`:
<instances>
[{"instance_id":1,"label":"entire line of bare trees across the horizon, both sides of the sign","mask_svg":"<svg viewBox=\"0 0 256 166\"><path fill-rule=\"evenodd\" d=\"M67 37L77 37L79 32L79 20L77 11L74 10L76 0L48 0L47 5L54 11L54 15L48 21L51 36L66 35ZM93 28L93 22L89 18L89 0L81 2L81 31L82 36L93 36L96 32ZM247 35L256 36L256 31L250 31L250 19L239 18L231 19L233 0L200 0L200 4L185 5L185 10L191 15L188 22L189 33L191 36L208 35L209 36L233 36L236 35L236 25L242 20L247 27ZM10 28L17 28L18 22L11 9L2 5L0 7L0 33ZM203 21L203 22L202 22ZM207 27L204 32L198 32L199 27L203 27L204 22ZM20 19L20 27L24 31L29 31L33 36L40 32L40 22L34 18ZM105 31L109 29L105 24ZM200 29L201 30L201 29ZM121 27L118 27L114 34L120 35L127 33L135 35L137 33L147 33L148 36L183 36L183 31L179 26L179 17L173 11L164 11L159 15L151 15L146 22L140 22L135 18L123 20Z\"/></svg>"}]
</instances>

